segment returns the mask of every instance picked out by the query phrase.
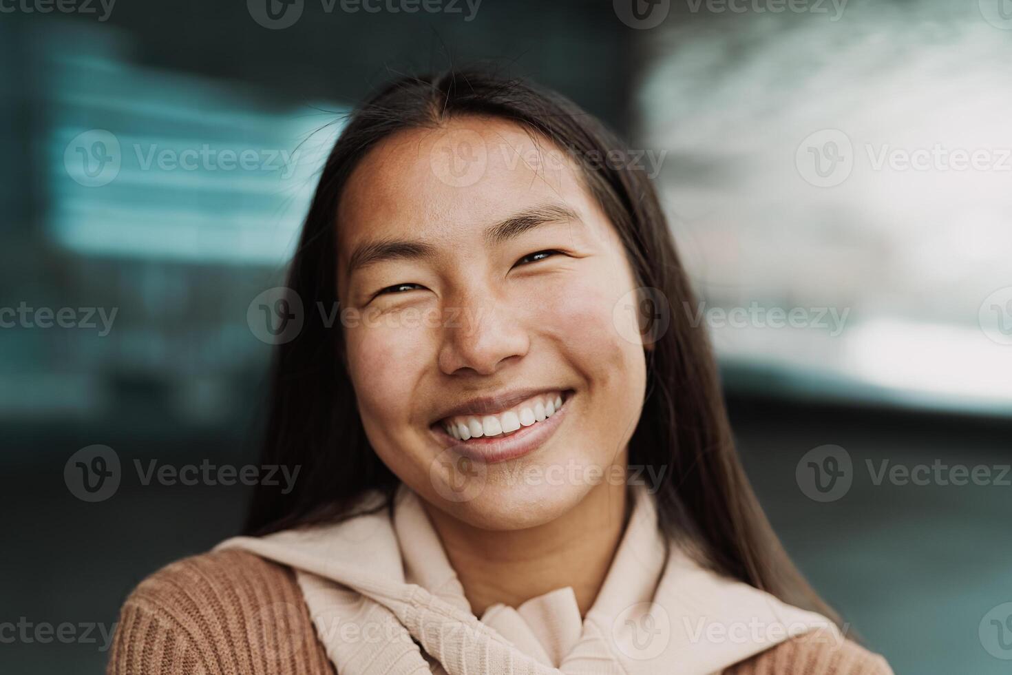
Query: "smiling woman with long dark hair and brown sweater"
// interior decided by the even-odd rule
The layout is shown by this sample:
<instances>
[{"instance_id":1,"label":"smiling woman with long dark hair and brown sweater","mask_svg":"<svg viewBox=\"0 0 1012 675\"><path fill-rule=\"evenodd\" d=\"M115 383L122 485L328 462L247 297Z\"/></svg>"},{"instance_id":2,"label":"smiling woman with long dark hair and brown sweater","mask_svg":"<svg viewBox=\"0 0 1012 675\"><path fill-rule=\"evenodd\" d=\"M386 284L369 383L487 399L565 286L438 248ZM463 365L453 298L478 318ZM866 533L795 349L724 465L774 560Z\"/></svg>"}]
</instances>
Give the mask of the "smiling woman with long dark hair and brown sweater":
<instances>
[{"instance_id":1,"label":"smiling woman with long dark hair and brown sweater","mask_svg":"<svg viewBox=\"0 0 1012 675\"><path fill-rule=\"evenodd\" d=\"M667 312L692 292L651 183L593 161L615 153L486 73L352 114L288 287L365 320L277 346L263 462L298 484L143 582L109 672L891 672L763 516L705 334Z\"/></svg>"}]
</instances>

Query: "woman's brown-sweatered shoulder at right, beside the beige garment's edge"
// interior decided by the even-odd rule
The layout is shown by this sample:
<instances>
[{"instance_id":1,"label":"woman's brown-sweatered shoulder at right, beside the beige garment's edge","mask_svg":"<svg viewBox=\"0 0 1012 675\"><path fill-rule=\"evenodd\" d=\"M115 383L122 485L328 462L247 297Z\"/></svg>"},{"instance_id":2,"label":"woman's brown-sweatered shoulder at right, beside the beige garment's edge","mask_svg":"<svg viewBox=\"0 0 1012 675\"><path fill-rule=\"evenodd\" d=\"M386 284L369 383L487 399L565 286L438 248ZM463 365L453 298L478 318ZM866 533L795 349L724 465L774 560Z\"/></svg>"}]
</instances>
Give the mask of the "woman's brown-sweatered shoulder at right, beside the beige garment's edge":
<instances>
[{"instance_id":1,"label":"woman's brown-sweatered shoulder at right, beside the beige garment's edge","mask_svg":"<svg viewBox=\"0 0 1012 675\"><path fill-rule=\"evenodd\" d=\"M893 675L886 659L857 643L799 636L724 671L729 675Z\"/></svg>"}]
</instances>

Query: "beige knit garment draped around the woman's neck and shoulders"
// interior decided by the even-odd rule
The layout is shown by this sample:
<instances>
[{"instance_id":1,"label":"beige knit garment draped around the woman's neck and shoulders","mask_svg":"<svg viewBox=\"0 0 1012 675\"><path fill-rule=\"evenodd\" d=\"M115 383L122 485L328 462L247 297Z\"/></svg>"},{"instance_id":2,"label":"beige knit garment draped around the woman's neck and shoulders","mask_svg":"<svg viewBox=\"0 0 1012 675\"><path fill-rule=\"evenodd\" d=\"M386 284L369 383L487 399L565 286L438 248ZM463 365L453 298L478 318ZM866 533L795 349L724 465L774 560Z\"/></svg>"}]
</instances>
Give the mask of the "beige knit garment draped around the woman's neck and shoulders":
<instances>
[{"instance_id":1,"label":"beige knit garment draped around the woman's neck and shoulders","mask_svg":"<svg viewBox=\"0 0 1012 675\"><path fill-rule=\"evenodd\" d=\"M653 497L632 512L593 606L581 618L572 588L479 619L415 493L387 510L265 537L242 549L292 567L327 656L359 673L718 673L802 634L838 649L821 614L707 571L666 545Z\"/></svg>"}]
</instances>

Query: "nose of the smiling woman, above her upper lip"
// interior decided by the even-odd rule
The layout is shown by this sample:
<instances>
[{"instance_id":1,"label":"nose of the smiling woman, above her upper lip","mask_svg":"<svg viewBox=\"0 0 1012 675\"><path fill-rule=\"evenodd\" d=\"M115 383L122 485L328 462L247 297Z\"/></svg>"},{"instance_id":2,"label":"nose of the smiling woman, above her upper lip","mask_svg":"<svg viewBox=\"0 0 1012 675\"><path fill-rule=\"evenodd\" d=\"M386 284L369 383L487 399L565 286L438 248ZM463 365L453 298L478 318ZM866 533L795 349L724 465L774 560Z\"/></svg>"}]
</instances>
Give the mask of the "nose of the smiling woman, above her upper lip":
<instances>
[{"instance_id":1,"label":"nose of the smiling woman, above her upper lip","mask_svg":"<svg viewBox=\"0 0 1012 675\"><path fill-rule=\"evenodd\" d=\"M459 300L443 309L440 370L491 375L527 353L530 337L509 302L491 288Z\"/></svg>"}]
</instances>

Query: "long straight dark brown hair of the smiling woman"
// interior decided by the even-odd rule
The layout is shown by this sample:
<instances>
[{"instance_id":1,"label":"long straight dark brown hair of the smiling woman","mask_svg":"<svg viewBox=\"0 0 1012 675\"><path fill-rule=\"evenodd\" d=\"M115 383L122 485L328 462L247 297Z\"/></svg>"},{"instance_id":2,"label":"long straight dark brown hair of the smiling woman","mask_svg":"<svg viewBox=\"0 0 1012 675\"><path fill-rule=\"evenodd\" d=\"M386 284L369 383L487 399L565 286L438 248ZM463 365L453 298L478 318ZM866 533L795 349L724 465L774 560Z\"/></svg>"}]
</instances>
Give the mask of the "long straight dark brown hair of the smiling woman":
<instances>
[{"instance_id":1,"label":"long straight dark brown hair of the smiling woman","mask_svg":"<svg viewBox=\"0 0 1012 675\"><path fill-rule=\"evenodd\" d=\"M256 488L247 534L347 517L365 491L390 496L398 485L365 437L343 361L343 334L328 327L326 313L312 309L337 307L338 200L359 160L396 132L435 129L454 115L508 119L575 157L627 150L569 99L490 72L403 77L350 114L323 168L288 269L286 285L306 308L305 324L298 337L275 347L271 366L262 461L302 470L288 494ZM637 285L656 289L672 306L694 306L646 172L608 162L581 168L621 238ZM646 356L646 400L628 456L629 463L667 468L657 492L665 531L690 541L716 571L839 623L783 551L752 492L704 329L688 313L671 312L670 326Z\"/></svg>"}]
</instances>

